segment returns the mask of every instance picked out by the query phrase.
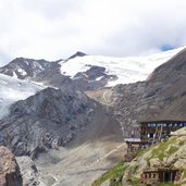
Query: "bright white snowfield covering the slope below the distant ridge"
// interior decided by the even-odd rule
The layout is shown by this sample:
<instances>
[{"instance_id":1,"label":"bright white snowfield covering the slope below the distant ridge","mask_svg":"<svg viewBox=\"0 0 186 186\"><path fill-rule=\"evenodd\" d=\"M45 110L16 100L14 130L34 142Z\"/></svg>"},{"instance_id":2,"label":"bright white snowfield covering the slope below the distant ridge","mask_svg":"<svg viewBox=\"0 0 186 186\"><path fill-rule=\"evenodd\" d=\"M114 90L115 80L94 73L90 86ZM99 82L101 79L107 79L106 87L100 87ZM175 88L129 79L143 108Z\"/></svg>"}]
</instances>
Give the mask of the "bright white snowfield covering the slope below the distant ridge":
<instances>
[{"instance_id":1,"label":"bright white snowfield covering the slope below the distant ridge","mask_svg":"<svg viewBox=\"0 0 186 186\"><path fill-rule=\"evenodd\" d=\"M67 61L61 62L61 73L76 79L77 74L85 77L88 76L87 72L92 66L104 67L102 74L95 75L95 79L101 80L106 75L112 75L106 86L114 86L117 84L128 84L145 80L149 74L159 65L170 60L184 47L170 51L164 51L148 57L128 57L128 58L110 58L101 55L82 55L70 58Z\"/></svg>"}]
</instances>

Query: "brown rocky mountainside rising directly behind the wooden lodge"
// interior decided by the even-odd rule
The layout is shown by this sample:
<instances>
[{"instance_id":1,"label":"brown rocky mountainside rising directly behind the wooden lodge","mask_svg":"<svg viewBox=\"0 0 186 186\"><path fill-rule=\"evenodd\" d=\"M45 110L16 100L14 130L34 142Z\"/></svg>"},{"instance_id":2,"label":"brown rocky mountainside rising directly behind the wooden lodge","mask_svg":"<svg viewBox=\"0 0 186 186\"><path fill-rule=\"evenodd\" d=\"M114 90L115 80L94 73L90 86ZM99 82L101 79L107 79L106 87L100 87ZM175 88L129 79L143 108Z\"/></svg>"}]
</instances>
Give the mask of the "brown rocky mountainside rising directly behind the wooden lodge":
<instances>
[{"instance_id":1,"label":"brown rocky mountainside rising directly behind the wooden lodge","mask_svg":"<svg viewBox=\"0 0 186 186\"><path fill-rule=\"evenodd\" d=\"M186 120L186 50L159 66L147 82L112 89L115 116L125 136L139 121Z\"/></svg>"}]
</instances>

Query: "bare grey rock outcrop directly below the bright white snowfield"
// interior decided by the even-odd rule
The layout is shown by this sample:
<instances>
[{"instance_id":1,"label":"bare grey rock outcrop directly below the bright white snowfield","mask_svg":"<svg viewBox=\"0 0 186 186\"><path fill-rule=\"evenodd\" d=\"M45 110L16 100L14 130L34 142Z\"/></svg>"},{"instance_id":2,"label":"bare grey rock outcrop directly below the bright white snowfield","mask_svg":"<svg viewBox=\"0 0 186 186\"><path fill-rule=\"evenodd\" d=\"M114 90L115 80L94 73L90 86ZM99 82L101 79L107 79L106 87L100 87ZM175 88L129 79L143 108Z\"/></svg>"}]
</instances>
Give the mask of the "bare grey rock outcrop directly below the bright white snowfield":
<instances>
[{"instance_id":1,"label":"bare grey rock outcrop directly below the bright white snowfield","mask_svg":"<svg viewBox=\"0 0 186 186\"><path fill-rule=\"evenodd\" d=\"M34 82L60 89L76 89L80 91L95 90L104 87L110 80L115 80L116 75L108 75L106 67L90 66L86 72L77 73L73 78L61 74L61 65L55 63L32 78Z\"/></svg>"}]
</instances>

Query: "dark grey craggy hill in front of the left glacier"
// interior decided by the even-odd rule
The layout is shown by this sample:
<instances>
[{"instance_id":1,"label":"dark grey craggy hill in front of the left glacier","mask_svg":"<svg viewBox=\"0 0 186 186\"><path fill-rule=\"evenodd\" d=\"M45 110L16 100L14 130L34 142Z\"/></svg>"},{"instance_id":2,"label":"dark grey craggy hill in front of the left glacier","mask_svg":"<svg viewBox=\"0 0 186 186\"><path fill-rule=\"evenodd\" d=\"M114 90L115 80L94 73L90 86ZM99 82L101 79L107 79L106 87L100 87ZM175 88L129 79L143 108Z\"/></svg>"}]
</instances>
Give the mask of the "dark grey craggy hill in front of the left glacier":
<instances>
[{"instance_id":1,"label":"dark grey craggy hill in front of the left glacier","mask_svg":"<svg viewBox=\"0 0 186 186\"><path fill-rule=\"evenodd\" d=\"M100 104L80 91L47 88L11 107L10 115L0 121L0 144L12 149L15 156L36 158L48 148L69 145L96 122L94 129L98 126L100 131L92 136L103 136L104 123L112 121ZM90 139L90 132L87 134L86 139Z\"/></svg>"}]
</instances>

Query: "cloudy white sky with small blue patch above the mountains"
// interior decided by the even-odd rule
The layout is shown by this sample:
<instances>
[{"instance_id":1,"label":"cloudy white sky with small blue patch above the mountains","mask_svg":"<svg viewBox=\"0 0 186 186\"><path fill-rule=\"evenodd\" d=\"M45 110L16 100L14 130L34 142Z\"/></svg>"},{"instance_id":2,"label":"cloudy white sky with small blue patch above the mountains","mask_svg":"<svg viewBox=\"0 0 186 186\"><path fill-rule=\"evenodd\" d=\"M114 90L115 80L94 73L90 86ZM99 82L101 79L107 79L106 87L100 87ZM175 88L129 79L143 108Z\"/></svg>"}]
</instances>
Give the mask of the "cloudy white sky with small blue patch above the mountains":
<instances>
[{"instance_id":1,"label":"cloudy white sky with small blue patch above the mountains","mask_svg":"<svg viewBox=\"0 0 186 186\"><path fill-rule=\"evenodd\" d=\"M147 55L185 45L185 0L0 0L0 65L17 57Z\"/></svg>"}]
</instances>

